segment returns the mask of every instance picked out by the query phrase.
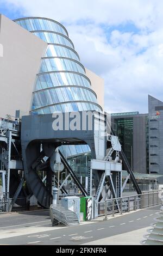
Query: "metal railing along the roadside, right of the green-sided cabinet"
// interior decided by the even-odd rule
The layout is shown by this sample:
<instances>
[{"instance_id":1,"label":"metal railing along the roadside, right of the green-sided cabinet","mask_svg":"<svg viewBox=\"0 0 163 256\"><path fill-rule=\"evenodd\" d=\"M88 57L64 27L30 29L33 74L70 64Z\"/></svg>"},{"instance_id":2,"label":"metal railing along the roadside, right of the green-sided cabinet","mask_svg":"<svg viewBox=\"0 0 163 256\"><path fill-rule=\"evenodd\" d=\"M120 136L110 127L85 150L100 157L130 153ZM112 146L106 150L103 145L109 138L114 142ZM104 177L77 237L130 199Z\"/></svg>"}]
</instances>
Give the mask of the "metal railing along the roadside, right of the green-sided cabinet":
<instances>
[{"instance_id":1,"label":"metal railing along the roadside, right of the green-sided cabinet","mask_svg":"<svg viewBox=\"0 0 163 256\"><path fill-rule=\"evenodd\" d=\"M114 216L116 213L136 211L151 206L160 205L159 190L147 191L140 195L113 198L98 203L98 216Z\"/></svg>"}]
</instances>

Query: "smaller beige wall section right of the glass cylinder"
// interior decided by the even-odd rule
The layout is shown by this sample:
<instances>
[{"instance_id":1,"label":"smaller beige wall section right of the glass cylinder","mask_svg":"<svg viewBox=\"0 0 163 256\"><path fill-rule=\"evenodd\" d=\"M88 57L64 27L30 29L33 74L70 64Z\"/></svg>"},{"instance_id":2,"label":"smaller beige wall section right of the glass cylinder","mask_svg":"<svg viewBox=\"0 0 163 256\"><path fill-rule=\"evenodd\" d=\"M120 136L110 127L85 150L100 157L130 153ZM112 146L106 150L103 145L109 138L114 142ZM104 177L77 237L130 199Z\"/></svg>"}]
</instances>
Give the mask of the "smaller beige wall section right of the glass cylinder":
<instances>
[{"instance_id":1,"label":"smaller beige wall section right of the glass cylinder","mask_svg":"<svg viewBox=\"0 0 163 256\"><path fill-rule=\"evenodd\" d=\"M92 89L97 94L98 104L101 105L104 111L104 80L103 78L97 76L95 73L89 69L85 69L86 76L90 79L92 84Z\"/></svg>"}]
</instances>

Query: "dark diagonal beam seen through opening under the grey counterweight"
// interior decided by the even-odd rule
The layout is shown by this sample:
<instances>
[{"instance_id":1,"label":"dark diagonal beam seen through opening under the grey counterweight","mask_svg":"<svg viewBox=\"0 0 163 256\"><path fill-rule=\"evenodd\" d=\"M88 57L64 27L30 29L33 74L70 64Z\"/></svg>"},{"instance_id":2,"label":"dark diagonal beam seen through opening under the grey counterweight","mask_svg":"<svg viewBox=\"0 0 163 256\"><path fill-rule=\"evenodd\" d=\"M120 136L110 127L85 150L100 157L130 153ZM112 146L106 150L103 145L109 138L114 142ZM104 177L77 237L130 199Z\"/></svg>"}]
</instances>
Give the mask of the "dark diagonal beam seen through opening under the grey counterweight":
<instances>
[{"instance_id":1,"label":"dark diagonal beam seen through opening under the grey counterweight","mask_svg":"<svg viewBox=\"0 0 163 256\"><path fill-rule=\"evenodd\" d=\"M77 178L76 174L74 174L72 168L70 167L70 165L68 164L68 162L66 161L65 157L62 155L60 150L59 150L59 154L60 154L60 157L61 157L61 162L64 164L64 166L67 169L68 173L70 173L72 179L74 180L74 182L78 186L79 190L82 192L83 196L87 196L87 192L86 192L85 188L80 183L80 181Z\"/></svg>"}]
</instances>

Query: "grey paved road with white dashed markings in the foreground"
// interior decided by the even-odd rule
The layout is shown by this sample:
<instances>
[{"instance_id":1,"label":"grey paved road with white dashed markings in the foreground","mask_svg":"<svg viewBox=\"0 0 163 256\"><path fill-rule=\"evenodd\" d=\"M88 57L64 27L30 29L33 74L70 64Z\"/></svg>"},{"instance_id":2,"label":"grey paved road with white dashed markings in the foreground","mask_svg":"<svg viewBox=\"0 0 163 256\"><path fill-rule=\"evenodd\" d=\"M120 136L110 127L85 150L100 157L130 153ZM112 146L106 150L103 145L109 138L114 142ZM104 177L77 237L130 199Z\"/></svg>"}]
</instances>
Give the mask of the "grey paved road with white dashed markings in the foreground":
<instances>
[{"instance_id":1,"label":"grey paved road with white dashed markings in the foreground","mask_svg":"<svg viewBox=\"0 0 163 256\"><path fill-rule=\"evenodd\" d=\"M47 210L0 215L1 245L139 245L160 206L84 222L52 227Z\"/></svg>"}]
</instances>

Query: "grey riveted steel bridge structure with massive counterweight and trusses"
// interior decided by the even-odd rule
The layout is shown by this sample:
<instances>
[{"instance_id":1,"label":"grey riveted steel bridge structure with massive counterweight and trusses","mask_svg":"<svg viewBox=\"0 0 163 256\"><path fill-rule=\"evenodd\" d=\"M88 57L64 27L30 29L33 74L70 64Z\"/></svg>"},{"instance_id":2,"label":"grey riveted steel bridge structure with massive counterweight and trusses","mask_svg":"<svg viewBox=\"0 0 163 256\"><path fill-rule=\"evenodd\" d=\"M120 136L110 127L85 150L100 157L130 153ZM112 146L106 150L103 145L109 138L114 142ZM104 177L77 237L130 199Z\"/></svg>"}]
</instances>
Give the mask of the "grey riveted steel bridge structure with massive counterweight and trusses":
<instances>
[{"instance_id":1,"label":"grey riveted steel bridge structure with massive counterweight and trusses","mask_svg":"<svg viewBox=\"0 0 163 256\"><path fill-rule=\"evenodd\" d=\"M91 161L89 161L87 189L81 184L65 156L60 150L58 152L68 176L71 176L83 196L92 196L92 180L95 182L94 205L97 206L96 208L98 208L98 202L109 199L110 194L112 198L122 196L122 187L124 187L122 186L122 161L126 164L137 193L141 194L118 137L114 135L108 123L106 113L91 111L91 114L87 114L83 111L72 114L71 112L68 117L69 119L67 119L67 113L28 115L23 116L19 124L8 121L10 125L1 128L2 187L5 202L9 202L5 210L12 209L20 194L24 194L27 199L34 195L40 205L49 208L52 203L55 152L61 145L89 145ZM59 118L62 118L61 125L59 125ZM4 120L4 123L7 123L7 120ZM17 157L15 160L14 154ZM39 175L42 171L46 173L46 184ZM15 174L16 178L13 178ZM17 182L15 182L15 189L11 186L13 180ZM24 180L28 192L24 190ZM67 194L65 180L59 184L59 187L62 193ZM60 181L55 176L55 184L58 182ZM4 201L1 200L1 202Z\"/></svg>"}]
</instances>

